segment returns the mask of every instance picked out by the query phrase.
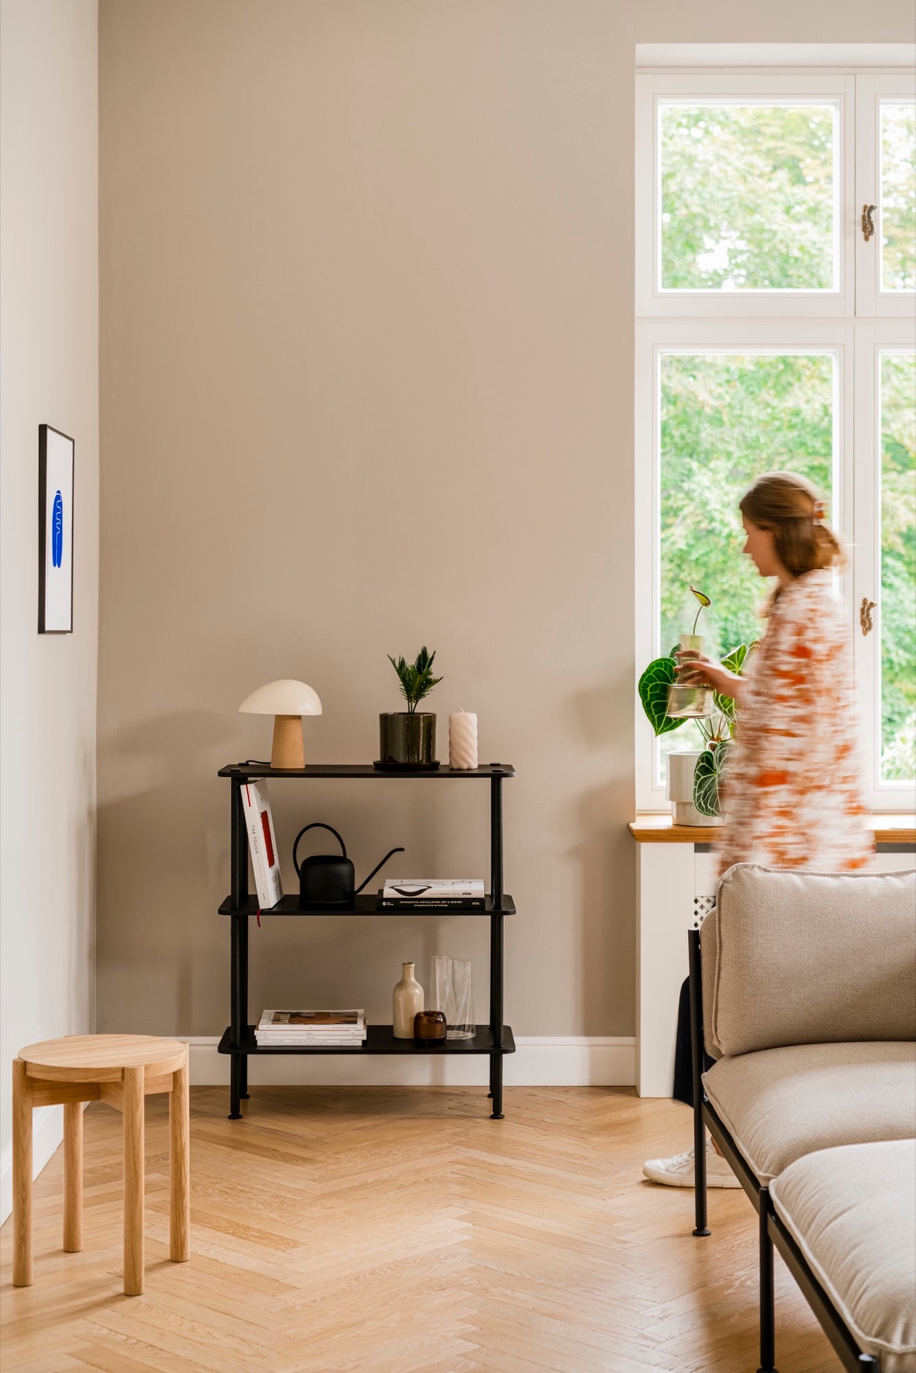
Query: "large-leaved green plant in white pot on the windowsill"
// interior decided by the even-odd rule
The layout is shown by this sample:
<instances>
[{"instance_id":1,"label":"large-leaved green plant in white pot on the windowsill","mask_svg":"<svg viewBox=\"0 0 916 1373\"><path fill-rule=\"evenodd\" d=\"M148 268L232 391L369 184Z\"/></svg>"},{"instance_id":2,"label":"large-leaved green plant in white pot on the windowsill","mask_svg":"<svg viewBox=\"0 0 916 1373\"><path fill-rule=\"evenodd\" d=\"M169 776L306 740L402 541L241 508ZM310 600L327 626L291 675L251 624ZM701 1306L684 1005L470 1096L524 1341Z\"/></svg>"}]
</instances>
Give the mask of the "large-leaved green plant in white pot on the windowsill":
<instances>
[{"instance_id":1,"label":"large-leaved green plant in white pot on the windowsill","mask_svg":"<svg viewBox=\"0 0 916 1373\"><path fill-rule=\"evenodd\" d=\"M699 601L694 629L689 634L681 636L681 643L672 648L670 654L666 654L665 658L656 658L655 662L648 665L639 680L639 696L645 711L645 718L652 726L656 739L672 729L680 729L685 719L696 721L705 743L702 750L683 755L688 773L687 778L684 778L688 784L688 792L687 795L678 792L676 796L670 785L673 781L672 776L669 777L669 798L677 807L678 805L684 806L688 803L688 796L691 796L689 803L699 811L699 817L702 818L692 820L689 814L678 814L677 809L674 810L674 816L687 824L702 824L709 822L709 820L715 821L721 818L720 781L724 776L728 763L728 751L735 736L735 699L732 696L722 696L720 692L710 692L710 714L703 714L702 717L687 713L678 715L669 714L670 688L677 688L678 685L676 654L684 649L702 652L703 644L702 638L696 634L696 622L702 611L707 605L711 605L709 596L703 592L698 592L695 586L691 586L691 590ZM722 667L728 667L740 676L744 660L753 647L753 644L739 644L737 648L732 648L722 658ZM680 691L689 693L691 688L681 686ZM694 688L692 691L698 689ZM699 692L705 693L705 688L699 688ZM669 763L674 757L677 755L669 754ZM688 759L692 761L692 783L689 781L691 763ZM678 781L681 781L680 777ZM674 783L674 789L677 789L677 783Z\"/></svg>"}]
</instances>

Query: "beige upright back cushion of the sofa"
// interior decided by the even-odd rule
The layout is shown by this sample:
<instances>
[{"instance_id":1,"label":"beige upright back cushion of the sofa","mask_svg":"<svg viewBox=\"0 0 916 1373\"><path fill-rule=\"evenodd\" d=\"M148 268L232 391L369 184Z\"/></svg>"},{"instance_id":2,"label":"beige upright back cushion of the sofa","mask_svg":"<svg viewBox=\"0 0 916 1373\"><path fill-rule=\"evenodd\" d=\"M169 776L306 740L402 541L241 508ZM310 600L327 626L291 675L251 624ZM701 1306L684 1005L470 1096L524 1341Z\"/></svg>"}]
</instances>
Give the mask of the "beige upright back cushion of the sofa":
<instances>
[{"instance_id":1,"label":"beige upright back cushion of the sofa","mask_svg":"<svg viewBox=\"0 0 916 1373\"><path fill-rule=\"evenodd\" d=\"M718 884L703 945L714 1054L916 1039L916 870L736 864Z\"/></svg>"}]
</instances>

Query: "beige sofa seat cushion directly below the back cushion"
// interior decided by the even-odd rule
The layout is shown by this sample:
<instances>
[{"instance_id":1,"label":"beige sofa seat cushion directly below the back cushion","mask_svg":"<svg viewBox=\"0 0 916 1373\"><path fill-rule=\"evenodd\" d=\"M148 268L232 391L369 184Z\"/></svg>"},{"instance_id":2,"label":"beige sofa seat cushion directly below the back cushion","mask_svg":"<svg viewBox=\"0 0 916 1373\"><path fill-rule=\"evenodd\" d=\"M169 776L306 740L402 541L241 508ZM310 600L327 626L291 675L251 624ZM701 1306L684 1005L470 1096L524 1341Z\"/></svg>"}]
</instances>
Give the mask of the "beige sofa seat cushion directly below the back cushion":
<instances>
[{"instance_id":1,"label":"beige sofa seat cushion directly below the back cushion","mask_svg":"<svg viewBox=\"0 0 916 1373\"><path fill-rule=\"evenodd\" d=\"M916 1043L810 1043L721 1059L706 1094L761 1182L840 1144L916 1135Z\"/></svg>"}]
</instances>

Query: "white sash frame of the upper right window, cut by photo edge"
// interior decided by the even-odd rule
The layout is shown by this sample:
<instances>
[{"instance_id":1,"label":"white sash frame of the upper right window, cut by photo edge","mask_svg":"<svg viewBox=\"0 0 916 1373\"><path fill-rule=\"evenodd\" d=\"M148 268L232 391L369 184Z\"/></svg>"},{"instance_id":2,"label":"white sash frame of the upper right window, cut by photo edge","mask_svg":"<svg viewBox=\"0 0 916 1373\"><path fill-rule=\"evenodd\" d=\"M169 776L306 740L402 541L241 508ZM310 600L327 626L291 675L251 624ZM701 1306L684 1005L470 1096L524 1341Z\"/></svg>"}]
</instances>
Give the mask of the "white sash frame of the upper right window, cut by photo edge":
<instances>
[{"instance_id":1,"label":"white sash frame of the upper right window, cut by photo edge","mask_svg":"<svg viewBox=\"0 0 916 1373\"><path fill-rule=\"evenodd\" d=\"M861 232L856 233L856 314L861 317L913 317L913 292L886 291L882 284L880 222L880 107L913 99L916 77L895 73L856 78L856 211L860 224L864 207L878 206L875 236L867 243Z\"/></svg>"}]
</instances>

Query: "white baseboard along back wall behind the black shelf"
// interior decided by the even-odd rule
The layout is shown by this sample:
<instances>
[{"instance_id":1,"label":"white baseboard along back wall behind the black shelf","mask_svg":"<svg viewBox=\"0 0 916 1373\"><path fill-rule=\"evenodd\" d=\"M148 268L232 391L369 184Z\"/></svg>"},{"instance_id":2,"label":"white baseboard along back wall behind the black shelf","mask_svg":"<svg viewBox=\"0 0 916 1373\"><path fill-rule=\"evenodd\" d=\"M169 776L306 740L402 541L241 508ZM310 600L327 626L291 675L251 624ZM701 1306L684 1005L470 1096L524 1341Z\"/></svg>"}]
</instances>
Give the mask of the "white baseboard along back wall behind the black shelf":
<instances>
[{"instance_id":1,"label":"white baseboard along back wall behind the black shelf","mask_svg":"<svg viewBox=\"0 0 916 1373\"><path fill-rule=\"evenodd\" d=\"M191 1085L228 1086L228 1054L217 1053L216 1035L181 1035L191 1045ZM253 1086L483 1086L483 1054L265 1054L249 1059ZM516 1037L507 1054L508 1087L632 1087L636 1039L614 1035Z\"/></svg>"}]
</instances>

